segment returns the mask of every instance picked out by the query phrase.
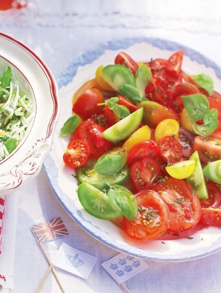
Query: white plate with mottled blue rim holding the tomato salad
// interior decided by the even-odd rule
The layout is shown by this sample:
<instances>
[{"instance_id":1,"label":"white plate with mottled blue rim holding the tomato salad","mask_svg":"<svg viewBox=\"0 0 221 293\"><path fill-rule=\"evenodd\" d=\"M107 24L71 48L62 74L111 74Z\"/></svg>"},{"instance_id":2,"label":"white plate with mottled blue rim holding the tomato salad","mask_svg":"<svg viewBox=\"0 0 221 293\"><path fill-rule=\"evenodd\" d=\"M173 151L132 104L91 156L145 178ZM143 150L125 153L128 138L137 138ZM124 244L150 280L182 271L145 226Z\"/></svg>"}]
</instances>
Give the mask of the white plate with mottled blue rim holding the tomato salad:
<instances>
[{"instance_id":1,"label":"white plate with mottled blue rim holding the tomato salad","mask_svg":"<svg viewBox=\"0 0 221 293\"><path fill-rule=\"evenodd\" d=\"M215 89L221 91L221 71L216 64L198 52L160 39L124 39L101 45L95 50L86 52L75 60L61 74L58 85L61 102L61 116L55 131L52 149L44 162L44 169L57 199L67 213L90 235L109 247L142 259L164 262L177 262L197 259L210 255L221 249L219 227L197 225L194 229L179 234L165 234L152 241L135 241L125 236L120 223L96 219L82 208L78 201L78 187L75 172L63 163L69 137L60 137L60 128L72 114L71 99L74 92L87 80L95 77L96 68L100 65L113 64L119 51L125 51L137 61L148 61L152 57L165 58L172 51L184 49L183 70L188 74L206 73L214 81ZM193 239L185 237L190 236ZM164 243L163 243L164 242Z\"/></svg>"}]
</instances>

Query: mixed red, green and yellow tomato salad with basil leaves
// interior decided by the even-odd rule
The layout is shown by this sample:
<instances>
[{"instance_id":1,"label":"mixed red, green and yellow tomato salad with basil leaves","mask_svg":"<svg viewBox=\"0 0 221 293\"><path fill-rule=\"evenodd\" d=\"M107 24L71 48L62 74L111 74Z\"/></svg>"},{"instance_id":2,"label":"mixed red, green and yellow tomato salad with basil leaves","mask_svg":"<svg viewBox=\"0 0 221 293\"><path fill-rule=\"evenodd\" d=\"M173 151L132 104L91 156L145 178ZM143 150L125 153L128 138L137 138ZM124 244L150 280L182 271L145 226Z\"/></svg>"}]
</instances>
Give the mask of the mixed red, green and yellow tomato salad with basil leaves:
<instances>
[{"instance_id":1,"label":"mixed red, green and yellow tomato salad with basil leaves","mask_svg":"<svg viewBox=\"0 0 221 293\"><path fill-rule=\"evenodd\" d=\"M183 53L137 63L120 52L74 94L60 131L83 208L121 217L141 241L221 225L221 95L182 71Z\"/></svg>"}]
</instances>

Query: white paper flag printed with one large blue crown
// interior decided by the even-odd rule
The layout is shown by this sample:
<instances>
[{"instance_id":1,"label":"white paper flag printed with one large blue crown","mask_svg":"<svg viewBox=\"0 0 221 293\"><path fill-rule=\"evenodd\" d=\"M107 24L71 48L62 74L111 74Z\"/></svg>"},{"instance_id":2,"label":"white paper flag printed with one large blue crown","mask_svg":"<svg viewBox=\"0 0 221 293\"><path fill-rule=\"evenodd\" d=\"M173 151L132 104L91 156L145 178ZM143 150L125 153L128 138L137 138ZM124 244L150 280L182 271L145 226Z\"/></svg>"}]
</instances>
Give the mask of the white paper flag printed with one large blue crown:
<instances>
[{"instance_id":1,"label":"white paper flag printed with one large blue crown","mask_svg":"<svg viewBox=\"0 0 221 293\"><path fill-rule=\"evenodd\" d=\"M52 263L67 272L87 279L96 261L97 257L75 249L63 242Z\"/></svg>"}]
</instances>

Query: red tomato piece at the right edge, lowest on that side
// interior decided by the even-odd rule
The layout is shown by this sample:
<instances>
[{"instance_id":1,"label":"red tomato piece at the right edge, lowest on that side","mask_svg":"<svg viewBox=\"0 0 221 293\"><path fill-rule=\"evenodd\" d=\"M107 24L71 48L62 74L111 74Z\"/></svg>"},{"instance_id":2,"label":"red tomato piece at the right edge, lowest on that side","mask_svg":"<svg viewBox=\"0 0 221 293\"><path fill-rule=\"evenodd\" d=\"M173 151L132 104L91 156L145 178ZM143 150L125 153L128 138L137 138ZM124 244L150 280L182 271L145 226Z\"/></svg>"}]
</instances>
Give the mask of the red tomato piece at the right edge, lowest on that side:
<instances>
[{"instance_id":1,"label":"red tomato piece at the right edge, lowest on that side","mask_svg":"<svg viewBox=\"0 0 221 293\"><path fill-rule=\"evenodd\" d=\"M202 208L201 221L206 225L221 226L221 209Z\"/></svg>"}]
</instances>

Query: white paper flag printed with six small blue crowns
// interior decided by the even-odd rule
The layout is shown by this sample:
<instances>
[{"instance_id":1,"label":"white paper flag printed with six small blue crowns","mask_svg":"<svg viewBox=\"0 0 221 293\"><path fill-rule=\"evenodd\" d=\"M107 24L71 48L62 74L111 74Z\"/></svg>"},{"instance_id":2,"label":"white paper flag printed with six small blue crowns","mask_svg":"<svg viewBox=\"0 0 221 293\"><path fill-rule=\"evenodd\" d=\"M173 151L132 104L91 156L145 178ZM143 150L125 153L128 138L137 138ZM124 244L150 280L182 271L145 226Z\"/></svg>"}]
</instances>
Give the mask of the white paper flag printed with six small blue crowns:
<instances>
[{"instance_id":1,"label":"white paper flag printed with six small blue crowns","mask_svg":"<svg viewBox=\"0 0 221 293\"><path fill-rule=\"evenodd\" d=\"M103 262L102 266L118 284L125 282L148 267L143 259L123 253L114 256L107 262Z\"/></svg>"}]
</instances>

